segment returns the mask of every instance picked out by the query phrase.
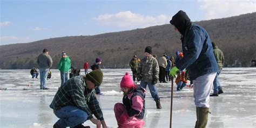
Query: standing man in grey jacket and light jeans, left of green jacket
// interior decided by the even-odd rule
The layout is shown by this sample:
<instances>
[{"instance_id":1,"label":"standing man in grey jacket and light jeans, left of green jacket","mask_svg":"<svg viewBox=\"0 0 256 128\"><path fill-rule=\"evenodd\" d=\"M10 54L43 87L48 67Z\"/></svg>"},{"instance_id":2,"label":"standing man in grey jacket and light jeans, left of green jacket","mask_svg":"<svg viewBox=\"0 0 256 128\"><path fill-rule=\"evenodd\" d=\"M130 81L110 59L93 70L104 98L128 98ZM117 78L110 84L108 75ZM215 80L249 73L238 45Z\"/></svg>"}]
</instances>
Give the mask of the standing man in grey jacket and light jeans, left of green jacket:
<instances>
[{"instance_id":1,"label":"standing man in grey jacket and light jeans, left of green jacket","mask_svg":"<svg viewBox=\"0 0 256 128\"><path fill-rule=\"evenodd\" d=\"M47 49L44 49L43 53L37 57L37 64L39 65L40 71L40 89L48 90L49 88L46 87L46 78L48 70L52 66L52 59Z\"/></svg>"}]
</instances>

